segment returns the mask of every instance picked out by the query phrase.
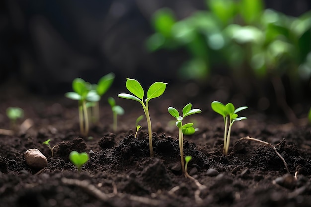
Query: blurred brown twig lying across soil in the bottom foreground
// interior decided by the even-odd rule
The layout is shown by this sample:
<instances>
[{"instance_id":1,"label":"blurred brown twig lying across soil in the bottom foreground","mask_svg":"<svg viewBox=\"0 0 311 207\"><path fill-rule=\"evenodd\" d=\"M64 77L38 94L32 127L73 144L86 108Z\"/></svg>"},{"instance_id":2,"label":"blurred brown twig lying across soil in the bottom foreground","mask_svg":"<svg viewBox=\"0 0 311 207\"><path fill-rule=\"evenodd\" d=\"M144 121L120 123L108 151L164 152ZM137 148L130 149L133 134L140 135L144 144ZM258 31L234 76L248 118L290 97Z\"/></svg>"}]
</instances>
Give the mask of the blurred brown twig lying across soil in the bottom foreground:
<instances>
[{"instance_id":1,"label":"blurred brown twig lying across soil in the bottom foreground","mask_svg":"<svg viewBox=\"0 0 311 207\"><path fill-rule=\"evenodd\" d=\"M160 201L155 200L155 199L150 199L150 198L146 198L146 197L142 197L142 196L133 196L133 195L125 194L125 193L116 193L117 190L116 190L115 185L113 186L114 193L105 194L102 191L100 191L98 188L96 188L94 185L90 184L90 182L88 180L81 181L81 180L77 180L77 179L62 178L62 182L64 184L67 184L67 185L79 186L79 187L87 190L89 193L93 194L94 196L96 196L97 198L99 198L105 202L107 202L108 199L110 199L110 198L118 196L121 198L127 197L128 199L130 199L132 201L140 202L143 204L149 204L152 206L159 206L159 204L160 204Z\"/></svg>"}]
</instances>

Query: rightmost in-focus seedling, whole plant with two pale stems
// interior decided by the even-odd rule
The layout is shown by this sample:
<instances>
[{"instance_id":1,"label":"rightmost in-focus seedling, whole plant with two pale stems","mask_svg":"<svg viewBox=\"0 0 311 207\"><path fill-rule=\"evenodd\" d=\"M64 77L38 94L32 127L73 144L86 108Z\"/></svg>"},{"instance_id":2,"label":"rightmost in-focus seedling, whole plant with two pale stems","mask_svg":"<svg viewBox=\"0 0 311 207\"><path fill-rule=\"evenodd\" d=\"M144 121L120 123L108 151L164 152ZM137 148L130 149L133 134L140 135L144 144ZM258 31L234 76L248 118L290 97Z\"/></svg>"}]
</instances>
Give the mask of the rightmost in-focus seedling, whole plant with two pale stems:
<instances>
[{"instance_id":1,"label":"rightmost in-focus seedling, whole plant with two pale stems","mask_svg":"<svg viewBox=\"0 0 311 207\"><path fill-rule=\"evenodd\" d=\"M213 101L211 103L212 109L223 116L224 118L224 148L223 153L225 155L228 154L228 148L229 148L229 142L230 142L230 133L231 133L231 127L235 121L241 121L243 119L247 119L246 117L238 117L236 114L239 111L242 111L244 109L247 109L247 106L242 106L237 109L235 109L234 105L232 103L228 103L226 105L222 104L219 101ZM229 125L229 126L228 126Z\"/></svg>"}]
</instances>

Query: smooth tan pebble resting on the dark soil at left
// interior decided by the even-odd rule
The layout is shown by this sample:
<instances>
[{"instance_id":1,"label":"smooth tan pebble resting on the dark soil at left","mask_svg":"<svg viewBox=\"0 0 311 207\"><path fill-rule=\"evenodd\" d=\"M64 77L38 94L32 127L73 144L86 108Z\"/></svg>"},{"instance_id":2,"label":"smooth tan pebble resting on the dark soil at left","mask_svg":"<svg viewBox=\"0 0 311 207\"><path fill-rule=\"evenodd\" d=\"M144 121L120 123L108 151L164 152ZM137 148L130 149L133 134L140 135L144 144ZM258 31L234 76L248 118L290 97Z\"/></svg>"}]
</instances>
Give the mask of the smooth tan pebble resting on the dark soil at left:
<instances>
[{"instance_id":1,"label":"smooth tan pebble resting on the dark soil at left","mask_svg":"<svg viewBox=\"0 0 311 207\"><path fill-rule=\"evenodd\" d=\"M48 160L38 149L28 149L24 157L29 167L42 169L48 166Z\"/></svg>"}]
</instances>

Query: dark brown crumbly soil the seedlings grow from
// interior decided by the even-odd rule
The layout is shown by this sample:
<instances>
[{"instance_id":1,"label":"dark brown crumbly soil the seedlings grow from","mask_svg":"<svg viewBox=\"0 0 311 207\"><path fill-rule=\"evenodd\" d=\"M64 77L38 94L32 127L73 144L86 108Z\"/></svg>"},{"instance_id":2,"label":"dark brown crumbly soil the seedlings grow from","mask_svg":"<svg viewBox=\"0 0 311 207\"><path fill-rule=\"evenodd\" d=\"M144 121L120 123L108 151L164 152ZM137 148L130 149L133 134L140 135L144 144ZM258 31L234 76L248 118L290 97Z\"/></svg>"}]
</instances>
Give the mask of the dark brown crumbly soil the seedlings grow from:
<instances>
[{"instance_id":1,"label":"dark brown crumbly soil the seedlings grow from","mask_svg":"<svg viewBox=\"0 0 311 207\"><path fill-rule=\"evenodd\" d=\"M0 128L10 128L4 114L8 106L23 108L25 118L34 124L14 136L0 135L1 207L311 206L310 126L294 127L282 117L250 108L241 113L247 120L234 123L230 153L224 156L223 120L210 109L212 96L182 99L167 89L163 97L150 102L155 152L151 158L145 120L138 138L132 130L143 113L139 103L116 98L125 115L119 117L118 131L112 132L111 110L102 100L99 124L92 125L91 137L82 137L76 102L14 92L19 95L2 91ZM116 97L118 92L111 94ZM201 186L182 175L178 131L167 112L169 106L180 111L187 101L202 109L188 118L198 132L184 140L184 154L192 156L188 172ZM273 147L239 141L247 136L275 146L289 173ZM42 145L47 139L58 145L53 157ZM47 157L46 168L29 168L23 154L30 148ZM73 150L89 153L81 172L68 159Z\"/></svg>"}]
</instances>

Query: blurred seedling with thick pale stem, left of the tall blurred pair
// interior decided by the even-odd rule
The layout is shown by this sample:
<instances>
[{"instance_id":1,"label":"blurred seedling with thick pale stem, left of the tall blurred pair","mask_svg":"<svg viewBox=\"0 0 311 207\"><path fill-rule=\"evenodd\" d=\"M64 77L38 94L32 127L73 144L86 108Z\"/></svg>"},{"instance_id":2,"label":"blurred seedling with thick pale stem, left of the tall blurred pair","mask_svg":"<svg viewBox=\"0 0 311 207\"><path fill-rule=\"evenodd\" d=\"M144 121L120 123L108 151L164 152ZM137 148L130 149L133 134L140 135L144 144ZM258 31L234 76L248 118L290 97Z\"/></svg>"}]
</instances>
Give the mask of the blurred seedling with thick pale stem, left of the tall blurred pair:
<instances>
[{"instance_id":1,"label":"blurred seedling with thick pale stem, left of the tall blurred pair","mask_svg":"<svg viewBox=\"0 0 311 207\"><path fill-rule=\"evenodd\" d=\"M86 136L89 131L89 121L87 112L88 102L98 102L100 96L92 90L91 84L81 78L73 80L72 88L74 92L65 93L67 98L77 100L79 103L79 122L81 134Z\"/></svg>"}]
</instances>

